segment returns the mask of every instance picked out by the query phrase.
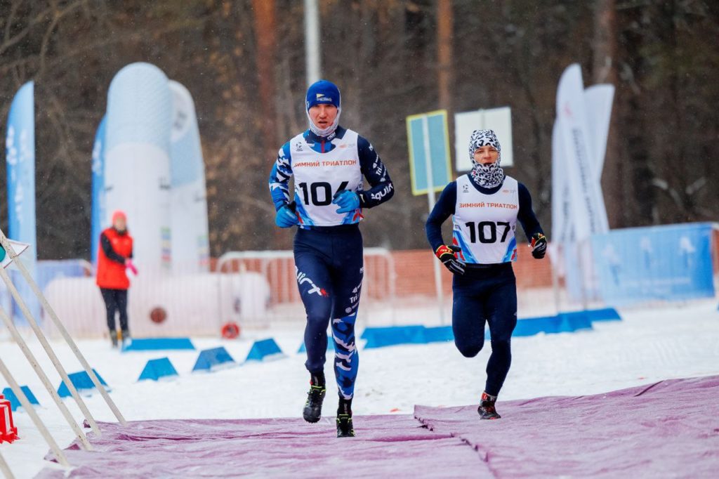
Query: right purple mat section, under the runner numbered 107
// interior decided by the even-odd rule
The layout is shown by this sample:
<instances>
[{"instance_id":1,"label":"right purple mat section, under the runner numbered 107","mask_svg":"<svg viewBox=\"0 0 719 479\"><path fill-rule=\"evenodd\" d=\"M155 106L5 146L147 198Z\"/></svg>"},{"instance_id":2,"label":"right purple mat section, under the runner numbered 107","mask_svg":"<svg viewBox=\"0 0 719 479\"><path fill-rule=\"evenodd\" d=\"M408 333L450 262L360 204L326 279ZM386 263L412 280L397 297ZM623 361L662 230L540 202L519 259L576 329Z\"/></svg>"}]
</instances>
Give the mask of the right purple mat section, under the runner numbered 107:
<instances>
[{"instance_id":1,"label":"right purple mat section, under the runner numbered 107","mask_svg":"<svg viewBox=\"0 0 719 479\"><path fill-rule=\"evenodd\" d=\"M501 478L719 478L719 376L497 409L498 421L477 421L477 406L416 406L415 417Z\"/></svg>"}]
</instances>

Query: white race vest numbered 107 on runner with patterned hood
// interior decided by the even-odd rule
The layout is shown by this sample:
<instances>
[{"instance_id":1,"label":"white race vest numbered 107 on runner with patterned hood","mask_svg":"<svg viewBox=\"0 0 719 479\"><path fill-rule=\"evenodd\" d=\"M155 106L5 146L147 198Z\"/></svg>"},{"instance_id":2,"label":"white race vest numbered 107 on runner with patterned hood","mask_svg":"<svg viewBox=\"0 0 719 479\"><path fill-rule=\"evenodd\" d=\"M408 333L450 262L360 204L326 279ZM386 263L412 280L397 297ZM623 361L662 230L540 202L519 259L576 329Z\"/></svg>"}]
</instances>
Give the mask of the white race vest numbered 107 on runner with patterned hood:
<instances>
[{"instance_id":1,"label":"white race vest numbered 107 on runner with patterned hood","mask_svg":"<svg viewBox=\"0 0 719 479\"><path fill-rule=\"evenodd\" d=\"M457 178L453 244L465 263L482 265L517 260L514 232L519 211L518 183L505 176L499 191L485 195L475 188L470 175Z\"/></svg>"}]
</instances>

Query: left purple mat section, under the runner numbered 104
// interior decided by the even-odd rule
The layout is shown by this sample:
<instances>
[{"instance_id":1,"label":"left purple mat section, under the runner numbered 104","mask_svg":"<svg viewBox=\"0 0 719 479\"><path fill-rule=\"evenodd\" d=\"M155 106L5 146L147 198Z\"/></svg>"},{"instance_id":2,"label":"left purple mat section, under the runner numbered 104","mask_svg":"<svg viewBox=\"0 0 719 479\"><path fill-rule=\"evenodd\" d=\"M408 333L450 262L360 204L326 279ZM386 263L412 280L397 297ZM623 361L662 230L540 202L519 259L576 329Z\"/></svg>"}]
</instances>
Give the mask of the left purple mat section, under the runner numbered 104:
<instances>
[{"instance_id":1,"label":"left purple mat section, under the runner numbered 104","mask_svg":"<svg viewBox=\"0 0 719 479\"><path fill-rule=\"evenodd\" d=\"M66 451L75 466L69 477L492 477L472 448L410 415L357 416L357 437L347 439L337 439L331 419L102 423L95 452L77 444ZM48 468L37 477L64 476Z\"/></svg>"}]
</instances>

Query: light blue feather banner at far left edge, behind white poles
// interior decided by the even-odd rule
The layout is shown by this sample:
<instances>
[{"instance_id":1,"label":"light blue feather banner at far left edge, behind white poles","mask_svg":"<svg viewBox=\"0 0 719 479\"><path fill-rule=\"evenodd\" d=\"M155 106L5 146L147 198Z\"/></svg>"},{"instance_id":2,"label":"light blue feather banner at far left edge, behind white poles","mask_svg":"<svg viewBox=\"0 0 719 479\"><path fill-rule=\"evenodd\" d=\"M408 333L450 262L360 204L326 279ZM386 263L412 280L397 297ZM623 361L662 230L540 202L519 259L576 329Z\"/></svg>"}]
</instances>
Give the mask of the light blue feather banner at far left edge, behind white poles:
<instances>
[{"instance_id":1,"label":"light blue feather banner at far left edge, behind white poles","mask_svg":"<svg viewBox=\"0 0 719 479\"><path fill-rule=\"evenodd\" d=\"M7 169L8 237L29 245L22 256L30 274L35 278L37 263L37 235L35 229L35 85L25 83L15 95L7 119L5 138ZM16 275L13 275L15 278ZM18 276L19 278L19 276ZM15 286L35 318L40 318L40 303L22 279ZM17 305L14 319L24 323Z\"/></svg>"}]
</instances>

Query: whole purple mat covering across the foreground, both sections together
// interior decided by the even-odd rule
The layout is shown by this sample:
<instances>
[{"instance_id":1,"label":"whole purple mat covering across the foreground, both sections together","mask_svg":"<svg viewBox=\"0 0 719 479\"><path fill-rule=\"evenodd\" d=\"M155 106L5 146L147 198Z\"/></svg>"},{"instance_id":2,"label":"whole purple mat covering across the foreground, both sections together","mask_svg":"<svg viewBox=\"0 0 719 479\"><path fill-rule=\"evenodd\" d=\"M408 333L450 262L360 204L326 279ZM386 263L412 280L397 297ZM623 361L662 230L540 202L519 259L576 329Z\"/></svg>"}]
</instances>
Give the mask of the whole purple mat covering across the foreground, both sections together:
<instances>
[{"instance_id":1,"label":"whole purple mat covering across the foreground, both sections together","mask_svg":"<svg viewBox=\"0 0 719 479\"><path fill-rule=\"evenodd\" d=\"M357 416L354 439L334 418L103 423L94 452L68 448L69 477L719 477L719 376L476 409Z\"/></svg>"}]
</instances>

